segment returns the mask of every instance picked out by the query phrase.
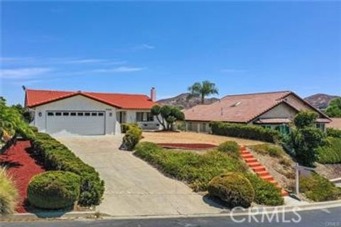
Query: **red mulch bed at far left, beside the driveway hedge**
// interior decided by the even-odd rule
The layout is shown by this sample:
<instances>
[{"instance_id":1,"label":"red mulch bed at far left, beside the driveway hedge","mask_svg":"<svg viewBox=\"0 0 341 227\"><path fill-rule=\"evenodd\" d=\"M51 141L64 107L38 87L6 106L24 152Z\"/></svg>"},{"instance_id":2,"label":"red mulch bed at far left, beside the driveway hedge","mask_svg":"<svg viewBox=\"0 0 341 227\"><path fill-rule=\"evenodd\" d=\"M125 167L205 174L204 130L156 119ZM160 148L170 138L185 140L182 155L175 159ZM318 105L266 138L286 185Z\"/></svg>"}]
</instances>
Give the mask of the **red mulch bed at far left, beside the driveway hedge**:
<instances>
[{"instance_id":1,"label":"red mulch bed at far left, beside the driveway hedge","mask_svg":"<svg viewBox=\"0 0 341 227\"><path fill-rule=\"evenodd\" d=\"M36 160L28 153L31 143L28 140L18 140L5 153L0 155L0 165L7 168L7 172L16 182L19 193L18 213L26 213L27 187L31 178L40 172L45 172Z\"/></svg>"}]
</instances>

